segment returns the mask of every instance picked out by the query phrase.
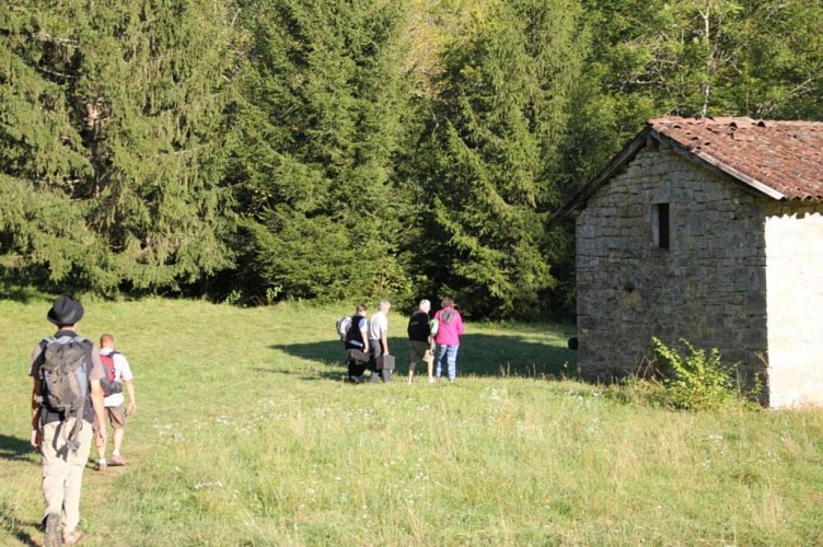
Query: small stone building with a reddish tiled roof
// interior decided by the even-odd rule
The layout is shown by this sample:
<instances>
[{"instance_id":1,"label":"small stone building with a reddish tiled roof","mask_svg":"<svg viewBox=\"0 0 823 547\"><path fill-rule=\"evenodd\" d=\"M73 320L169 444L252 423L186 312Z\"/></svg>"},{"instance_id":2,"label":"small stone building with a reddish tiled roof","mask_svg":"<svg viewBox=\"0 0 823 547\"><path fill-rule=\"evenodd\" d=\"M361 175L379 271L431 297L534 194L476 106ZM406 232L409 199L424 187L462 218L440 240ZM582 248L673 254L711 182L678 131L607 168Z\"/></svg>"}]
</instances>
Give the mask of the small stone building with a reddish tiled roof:
<instances>
[{"instance_id":1,"label":"small stone building with a reddish tiled roof","mask_svg":"<svg viewBox=\"0 0 823 547\"><path fill-rule=\"evenodd\" d=\"M555 214L575 218L578 369L638 371L657 336L823 405L823 123L658 118Z\"/></svg>"}]
</instances>

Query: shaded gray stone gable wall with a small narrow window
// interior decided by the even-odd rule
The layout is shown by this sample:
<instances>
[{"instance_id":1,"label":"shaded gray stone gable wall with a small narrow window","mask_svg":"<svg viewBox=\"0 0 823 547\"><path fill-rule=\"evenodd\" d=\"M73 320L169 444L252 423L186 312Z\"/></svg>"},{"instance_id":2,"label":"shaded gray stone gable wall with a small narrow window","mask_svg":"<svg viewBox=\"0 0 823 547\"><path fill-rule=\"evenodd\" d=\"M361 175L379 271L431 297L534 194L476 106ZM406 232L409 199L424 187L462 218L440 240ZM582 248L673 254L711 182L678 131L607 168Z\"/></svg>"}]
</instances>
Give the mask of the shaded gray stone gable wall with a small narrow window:
<instances>
[{"instance_id":1,"label":"shaded gray stone gable wall with a small narrow window","mask_svg":"<svg viewBox=\"0 0 823 547\"><path fill-rule=\"evenodd\" d=\"M578 366L583 377L638 371L657 336L718 348L760 372L767 340L764 223L770 198L673 150L645 148L577 219ZM669 203L670 248L654 245Z\"/></svg>"}]
</instances>

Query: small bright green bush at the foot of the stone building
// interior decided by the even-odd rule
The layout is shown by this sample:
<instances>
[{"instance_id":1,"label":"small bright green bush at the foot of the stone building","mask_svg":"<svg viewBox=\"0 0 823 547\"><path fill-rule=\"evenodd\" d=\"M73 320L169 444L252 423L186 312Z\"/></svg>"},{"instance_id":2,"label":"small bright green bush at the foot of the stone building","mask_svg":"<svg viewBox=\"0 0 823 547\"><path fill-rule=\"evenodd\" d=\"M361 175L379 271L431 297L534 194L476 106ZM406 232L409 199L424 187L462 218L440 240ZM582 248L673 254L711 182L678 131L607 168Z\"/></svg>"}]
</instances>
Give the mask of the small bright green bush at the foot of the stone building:
<instances>
[{"instance_id":1,"label":"small bright green bush at the foot of the stone building","mask_svg":"<svg viewBox=\"0 0 823 547\"><path fill-rule=\"evenodd\" d=\"M746 399L737 383L737 366L721 362L720 351L697 349L681 338L688 354L681 354L659 338L651 339L654 352L666 364L662 385L666 399L675 408L687 410L717 410L741 406Z\"/></svg>"}]
</instances>

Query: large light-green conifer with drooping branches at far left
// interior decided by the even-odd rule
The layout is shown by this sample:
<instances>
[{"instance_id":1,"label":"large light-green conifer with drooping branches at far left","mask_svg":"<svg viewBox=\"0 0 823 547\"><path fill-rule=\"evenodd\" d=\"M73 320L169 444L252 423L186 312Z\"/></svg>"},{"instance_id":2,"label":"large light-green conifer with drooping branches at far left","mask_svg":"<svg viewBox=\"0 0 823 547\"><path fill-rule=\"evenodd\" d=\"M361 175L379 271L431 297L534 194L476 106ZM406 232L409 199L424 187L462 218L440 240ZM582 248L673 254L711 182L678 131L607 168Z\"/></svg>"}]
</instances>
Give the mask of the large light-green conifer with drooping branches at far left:
<instances>
[{"instance_id":1,"label":"large light-green conifer with drooping branches at far left","mask_svg":"<svg viewBox=\"0 0 823 547\"><path fill-rule=\"evenodd\" d=\"M20 0L0 14L7 268L114 291L177 289L231 265L229 14L209 0Z\"/></svg>"}]
</instances>

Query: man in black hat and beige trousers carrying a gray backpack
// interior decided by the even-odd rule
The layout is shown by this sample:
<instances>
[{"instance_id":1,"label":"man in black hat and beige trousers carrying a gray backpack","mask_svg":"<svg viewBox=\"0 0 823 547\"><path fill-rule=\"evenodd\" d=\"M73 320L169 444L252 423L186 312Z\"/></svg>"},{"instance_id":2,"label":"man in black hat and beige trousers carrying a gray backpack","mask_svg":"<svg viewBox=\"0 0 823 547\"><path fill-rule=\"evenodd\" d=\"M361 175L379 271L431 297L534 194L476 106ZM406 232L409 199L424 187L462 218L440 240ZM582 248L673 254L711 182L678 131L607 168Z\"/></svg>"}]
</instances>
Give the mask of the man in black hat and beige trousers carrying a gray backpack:
<instances>
[{"instance_id":1,"label":"man in black hat and beige trousers carrying a gray backpack","mask_svg":"<svg viewBox=\"0 0 823 547\"><path fill-rule=\"evenodd\" d=\"M103 386L101 379L105 372L94 344L77 333L78 324L83 317L80 302L62 295L56 299L46 316L57 325L57 333L38 342L32 349L32 364L28 375L34 379L32 392L32 446L39 449L43 464L43 496L46 511L43 517L45 527L44 546L70 545L80 538L77 525L80 522L80 490L83 470L89 461L92 445L92 421L96 415L101 423L105 418L103 406ZM67 349L69 348L69 349ZM59 397L68 395L60 389L49 393L58 385L53 380L59 374L53 371L53 363L60 351L65 354L79 356L79 369L73 377L88 380L82 386L85 393L79 407L72 410L55 408ZM48 379L47 379L48 375ZM66 385L66 383L63 383ZM77 385L72 387L78 392ZM77 416L71 416L74 412ZM105 429L97 432L97 442L105 443Z\"/></svg>"}]
</instances>

